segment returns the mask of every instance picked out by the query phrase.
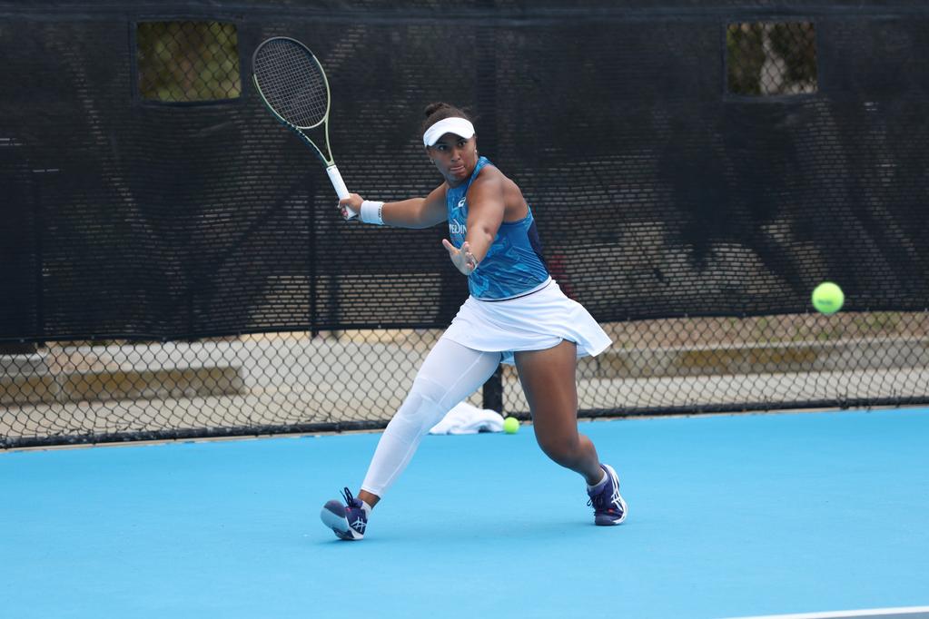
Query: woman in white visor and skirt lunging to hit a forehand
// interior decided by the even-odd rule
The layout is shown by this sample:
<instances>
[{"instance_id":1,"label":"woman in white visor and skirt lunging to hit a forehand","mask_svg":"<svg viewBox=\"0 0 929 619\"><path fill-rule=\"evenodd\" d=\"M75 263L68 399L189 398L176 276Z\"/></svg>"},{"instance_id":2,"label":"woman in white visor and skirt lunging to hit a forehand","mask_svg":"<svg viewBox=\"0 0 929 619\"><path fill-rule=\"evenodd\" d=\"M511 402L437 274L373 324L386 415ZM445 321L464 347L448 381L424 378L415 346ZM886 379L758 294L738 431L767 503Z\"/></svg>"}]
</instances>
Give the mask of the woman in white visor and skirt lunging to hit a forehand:
<instances>
[{"instance_id":1,"label":"woman in white visor and skirt lunging to hit a forehand","mask_svg":"<svg viewBox=\"0 0 929 619\"><path fill-rule=\"evenodd\" d=\"M444 182L425 198L384 203L351 194L339 204L343 217L360 213L362 222L376 226L448 221L442 244L468 278L470 295L387 425L358 496L346 488L344 502L323 507L322 522L341 539L361 539L373 507L429 429L500 363L515 363L543 452L582 475L595 524L619 524L627 510L616 471L600 462L577 427L577 359L603 352L609 338L549 276L529 204L516 183L478 155L469 117L446 103L428 106L425 115L425 153Z\"/></svg>"}]
</instances>

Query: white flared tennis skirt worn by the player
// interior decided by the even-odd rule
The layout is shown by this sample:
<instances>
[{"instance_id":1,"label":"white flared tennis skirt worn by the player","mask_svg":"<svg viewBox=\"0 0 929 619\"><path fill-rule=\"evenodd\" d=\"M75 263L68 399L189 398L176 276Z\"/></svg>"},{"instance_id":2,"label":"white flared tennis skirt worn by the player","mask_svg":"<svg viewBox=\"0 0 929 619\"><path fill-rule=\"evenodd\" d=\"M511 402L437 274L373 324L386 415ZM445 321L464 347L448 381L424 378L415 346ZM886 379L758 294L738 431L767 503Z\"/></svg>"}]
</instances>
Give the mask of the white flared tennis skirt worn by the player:
<instances>
[{"instance_id":1,"label":"white flared tennis skirt worn by the player","mask_svg":"<svg viewBox=\"0 0 929 619\"><path fill-rule=\"evenodd\" d=\"M570 300L552 279L543 288L506 301L468 297L442 335L513 365L517 351L543 350L574 342L578 357L599 355L612 341L581 303Z\"/></svg>"}]
</instances>

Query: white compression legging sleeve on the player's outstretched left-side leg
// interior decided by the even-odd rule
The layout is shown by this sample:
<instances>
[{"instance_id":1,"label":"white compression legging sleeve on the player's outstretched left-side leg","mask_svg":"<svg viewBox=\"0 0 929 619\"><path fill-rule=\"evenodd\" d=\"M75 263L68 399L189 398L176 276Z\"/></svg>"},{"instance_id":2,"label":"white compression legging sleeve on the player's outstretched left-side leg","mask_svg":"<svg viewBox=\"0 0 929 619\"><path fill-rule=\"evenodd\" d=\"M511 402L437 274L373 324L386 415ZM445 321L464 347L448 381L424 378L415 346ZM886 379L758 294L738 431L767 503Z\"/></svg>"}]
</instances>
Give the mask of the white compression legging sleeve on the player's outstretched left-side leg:
<instances>
[{"instance_id":1,"label":"white compression legging sleeve on the player's outstretched left-side leg","mask_svg":"<svg viewBox=\"0 0 929 619\"><path fill-rule=\"evenodd\" d=\"M425 434L451 408L491 378L500 359L500 353L485 353L451 340L439 340L426 355L394 419L387 424L361 489L384 496L406 469Z\"/></svg>"}]
</instances>

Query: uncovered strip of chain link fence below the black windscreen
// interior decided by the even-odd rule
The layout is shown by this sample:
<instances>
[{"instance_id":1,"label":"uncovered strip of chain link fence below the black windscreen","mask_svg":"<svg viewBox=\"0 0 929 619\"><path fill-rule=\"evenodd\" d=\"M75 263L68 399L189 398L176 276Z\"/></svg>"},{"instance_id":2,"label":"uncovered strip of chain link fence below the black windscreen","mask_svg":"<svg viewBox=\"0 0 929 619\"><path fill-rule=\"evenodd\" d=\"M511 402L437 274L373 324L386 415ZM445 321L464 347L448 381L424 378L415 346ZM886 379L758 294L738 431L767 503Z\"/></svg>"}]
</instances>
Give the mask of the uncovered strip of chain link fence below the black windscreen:
<instances>
[{"instance_id":1,"label":"uncovered strip of chain link fence below the black windscreen","mask_svg":"<svg viewBox=\"0 0 929 619\"><path fill-rule=\"evenodd\" d=\"M924 401L929 388L926 313L604 327L613 346L578 369L582 416L900 405ZM376 329L58 342L0 355L0 440L15 446L379 428L440 335ZM515 369L504 366L493 381L470 402L530 419Z\"/></svg>"}]
</instances>

